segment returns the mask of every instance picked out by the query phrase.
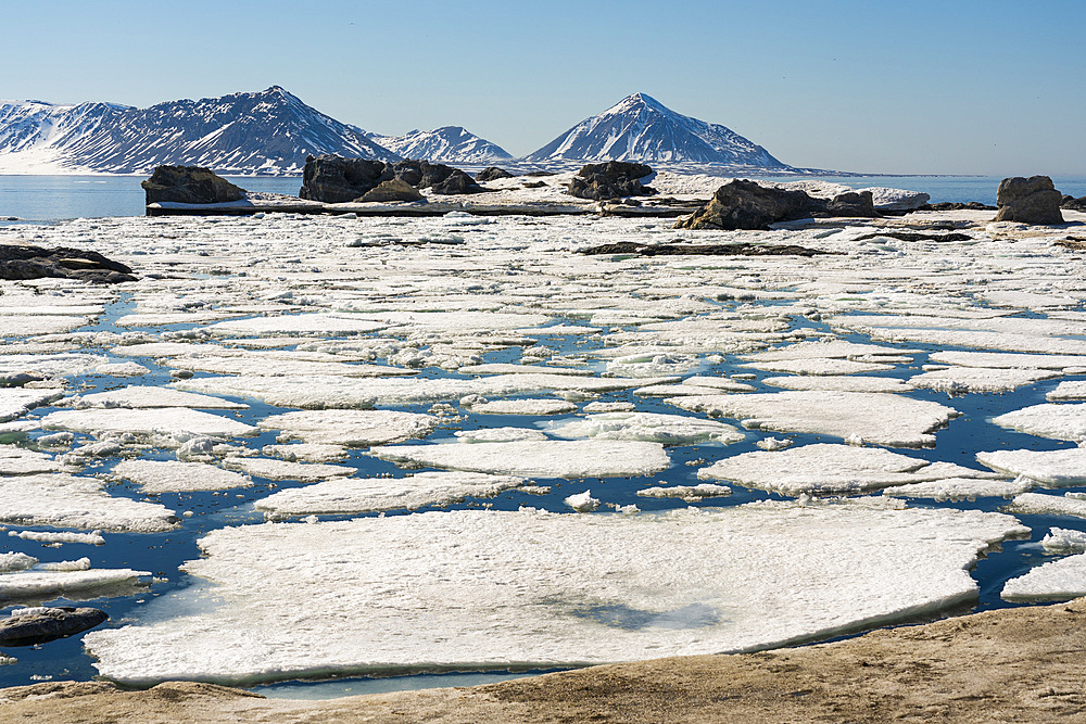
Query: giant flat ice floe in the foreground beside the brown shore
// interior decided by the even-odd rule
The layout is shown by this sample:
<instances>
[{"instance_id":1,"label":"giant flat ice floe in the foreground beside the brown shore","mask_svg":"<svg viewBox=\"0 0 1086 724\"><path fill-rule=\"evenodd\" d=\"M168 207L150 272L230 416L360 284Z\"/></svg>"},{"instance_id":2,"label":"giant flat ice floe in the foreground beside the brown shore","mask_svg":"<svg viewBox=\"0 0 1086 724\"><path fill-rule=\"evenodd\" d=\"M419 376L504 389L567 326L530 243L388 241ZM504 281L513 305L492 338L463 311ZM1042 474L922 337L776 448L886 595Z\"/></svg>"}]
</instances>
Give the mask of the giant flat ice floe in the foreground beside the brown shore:
<instances>
[{"instance_id":1,"label":"giant flat ice floe in the foreground beside the brown shore","mask_svg":"<svg viewBox=\"0 0 1086 724\"><path fill-rule=\"evenodd\" d=\"M969 600L972 562L1025 530L978 511L774 503L227 528L184 567L215 581L214 604L169 614L160 598L84 644L130 684L743 651Z\"/></svg>"}]
</instances>

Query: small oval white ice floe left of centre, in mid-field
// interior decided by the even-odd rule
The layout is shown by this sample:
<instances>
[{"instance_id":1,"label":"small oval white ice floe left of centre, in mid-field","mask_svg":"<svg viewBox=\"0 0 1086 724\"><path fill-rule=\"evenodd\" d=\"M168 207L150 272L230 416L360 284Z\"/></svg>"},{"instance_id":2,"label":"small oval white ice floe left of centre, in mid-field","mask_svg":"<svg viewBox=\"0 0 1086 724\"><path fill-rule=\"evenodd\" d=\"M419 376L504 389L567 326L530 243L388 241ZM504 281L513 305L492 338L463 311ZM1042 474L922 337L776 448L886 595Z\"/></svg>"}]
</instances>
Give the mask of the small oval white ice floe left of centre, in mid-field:
<instances>
[{"instance_id":1,"label":"small oval white ice floe left of centre, in mid-field","mask_svg":"<svg viewBox=\"0 0 1086 724\"><path fill-rule=\"evenodd\" d=\"M396 410L325 409L273 415L260 421L262 430L281 430L280 442L366 447L426 437L439 420L432 415Z\"/></svg>"}]
</instances>

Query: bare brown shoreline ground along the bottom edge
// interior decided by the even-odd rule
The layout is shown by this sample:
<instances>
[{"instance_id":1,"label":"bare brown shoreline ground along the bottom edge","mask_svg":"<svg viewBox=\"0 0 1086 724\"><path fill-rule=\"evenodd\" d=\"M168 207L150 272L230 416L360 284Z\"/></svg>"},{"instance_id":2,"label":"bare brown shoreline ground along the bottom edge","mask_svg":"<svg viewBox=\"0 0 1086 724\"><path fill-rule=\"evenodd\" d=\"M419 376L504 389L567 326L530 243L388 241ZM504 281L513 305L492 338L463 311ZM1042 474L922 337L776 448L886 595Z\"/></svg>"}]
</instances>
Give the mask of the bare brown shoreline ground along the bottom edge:
<instances>
[{"instance_id":1,"label":"bare brown shoreline ground along the bottom edge","mask_svg":"<svg viewBox=\"0 0 1086 724\"><path fill-rule=\"evenodd\" d=\"M0 720L111 722L1086 721L1086 599L998 609L829 644L592 666L501 684L265 699L212 684L0 690Z\"/></svg>"}]
</instances>

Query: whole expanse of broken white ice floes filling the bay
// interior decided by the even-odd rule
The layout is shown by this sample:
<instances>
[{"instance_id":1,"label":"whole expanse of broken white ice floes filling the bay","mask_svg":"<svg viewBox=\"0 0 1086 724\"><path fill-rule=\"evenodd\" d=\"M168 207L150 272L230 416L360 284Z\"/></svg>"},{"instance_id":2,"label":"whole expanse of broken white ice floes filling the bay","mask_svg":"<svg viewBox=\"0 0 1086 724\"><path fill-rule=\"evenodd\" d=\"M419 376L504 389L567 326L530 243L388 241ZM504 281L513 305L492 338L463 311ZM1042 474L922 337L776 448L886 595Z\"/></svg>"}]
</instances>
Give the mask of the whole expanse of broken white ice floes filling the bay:
<instances>
[{"instance_id":1,"label":"whole expanse of broken white ice floes filling the bay","mask_svg":"<svg viewBox=\"0 0 1086 724\"><path fill-rule=\"evenodd\" d=\"M4 283L3 590L155 571L83 639L131 684L740 651L993 576L1082 592L1077 559L1023 579L1016 539L1086 534L1086 262L990 216L0 225L139 277ZM860 239L948 225L971 241ZM835 253L578 253L624 241ZM86 571L18 569L88 536Z\"/></svg>"}]
</instances>

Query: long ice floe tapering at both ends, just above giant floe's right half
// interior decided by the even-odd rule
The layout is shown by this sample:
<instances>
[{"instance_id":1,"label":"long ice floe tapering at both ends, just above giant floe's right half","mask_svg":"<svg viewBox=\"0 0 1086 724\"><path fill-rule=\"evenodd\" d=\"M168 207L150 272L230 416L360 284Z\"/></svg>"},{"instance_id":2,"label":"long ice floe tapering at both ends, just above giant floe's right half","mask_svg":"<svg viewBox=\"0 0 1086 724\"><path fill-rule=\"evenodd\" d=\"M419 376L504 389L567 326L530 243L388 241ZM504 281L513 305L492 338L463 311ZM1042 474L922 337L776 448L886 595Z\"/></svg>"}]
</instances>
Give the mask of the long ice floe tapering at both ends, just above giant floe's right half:
<instances>
[{"instance_id":1,"label":"long ice floe tapering at both ends, just above giant floe's right half","mask_svg":"<svg viewBox=\"0 0 1086 724\"><path fill-rule=\"evenodd\" d=\"M702 468L697 477L798 496L862 493L906 483L998 475L951 462L929 463L877 447L816 443L735 455Z\"/></svg>"}]
</instances>

